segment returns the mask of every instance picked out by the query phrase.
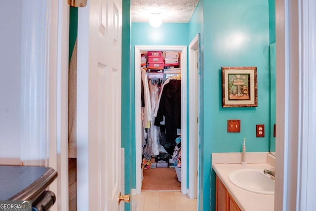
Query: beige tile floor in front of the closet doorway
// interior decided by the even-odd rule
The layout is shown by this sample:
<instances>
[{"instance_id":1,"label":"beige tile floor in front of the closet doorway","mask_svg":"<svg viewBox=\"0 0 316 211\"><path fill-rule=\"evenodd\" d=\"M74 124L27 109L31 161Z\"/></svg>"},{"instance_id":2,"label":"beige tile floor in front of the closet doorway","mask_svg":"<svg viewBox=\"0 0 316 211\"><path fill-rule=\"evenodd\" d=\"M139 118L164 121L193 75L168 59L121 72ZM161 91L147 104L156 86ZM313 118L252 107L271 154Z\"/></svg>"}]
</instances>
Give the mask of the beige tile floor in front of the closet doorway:
<instances>
[{"instance_id":1,"label":"beige tile floor in front of the closet doorway","mask_svg":"<svg viewBox=\"0 0 316 211\"><path fill-rule=\"evenodd\" d=\"M197 199L180 191L143 191L132 196L132 211L197 211Z\"/></svg>"}]
</instances>

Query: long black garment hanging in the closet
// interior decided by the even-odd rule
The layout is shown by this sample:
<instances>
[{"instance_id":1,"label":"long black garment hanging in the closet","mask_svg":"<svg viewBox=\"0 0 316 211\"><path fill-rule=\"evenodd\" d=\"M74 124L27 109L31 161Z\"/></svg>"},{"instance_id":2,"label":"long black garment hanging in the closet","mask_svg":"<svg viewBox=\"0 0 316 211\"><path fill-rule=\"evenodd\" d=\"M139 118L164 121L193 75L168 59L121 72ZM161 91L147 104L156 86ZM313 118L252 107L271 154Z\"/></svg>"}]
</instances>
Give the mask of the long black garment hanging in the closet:
<instances>
[{"instance_id":1,"label":"long black garment hanging in the closet","mask_svg":"<svg viewBox=\"0 0 316 211\"><path fill-rule=\"evenodd\" d=\"M169 143L169 153L173 153L177 128L181 128L181 80L170 80L161 93L155 125L165 121L166 142ZM168 151L168 150L167 150Z\"/></svg>"}]
</instances>

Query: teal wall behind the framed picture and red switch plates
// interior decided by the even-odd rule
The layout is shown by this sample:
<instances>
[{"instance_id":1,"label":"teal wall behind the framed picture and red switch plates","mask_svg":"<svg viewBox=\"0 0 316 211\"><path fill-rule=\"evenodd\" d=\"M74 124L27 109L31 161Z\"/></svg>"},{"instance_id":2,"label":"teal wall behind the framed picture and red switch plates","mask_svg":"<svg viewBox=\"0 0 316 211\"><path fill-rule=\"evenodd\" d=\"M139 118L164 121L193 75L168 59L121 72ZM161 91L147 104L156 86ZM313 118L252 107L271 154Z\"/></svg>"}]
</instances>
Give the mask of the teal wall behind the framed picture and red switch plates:
<instances>
[{"instance_id":1,"label":"teal wall behind the framed picture and red switch plates","mask_svg":"<svg viewBox=\"0 0 316 211\"><path fill-rule=\"evenodd\" d=\"M203 207L215 210L215 172L211 153L241 152L245 137L248 152L268 152L270 145L270 64L269 5L267 0L203 1L204 66L201 76L203 123L202 176ZM223 66L256 66L258 71L258 107L223 108ZM227 132L227 120L240 119L240 133ZM265 137L256 137L256 125L266 126ZM212 172L212 173L211 173ZM212 175L210 177L210 175ZM212 186L210 186L212 181ZM210 187L211 191L210 191Z\"/></svg>"}]
</instances>

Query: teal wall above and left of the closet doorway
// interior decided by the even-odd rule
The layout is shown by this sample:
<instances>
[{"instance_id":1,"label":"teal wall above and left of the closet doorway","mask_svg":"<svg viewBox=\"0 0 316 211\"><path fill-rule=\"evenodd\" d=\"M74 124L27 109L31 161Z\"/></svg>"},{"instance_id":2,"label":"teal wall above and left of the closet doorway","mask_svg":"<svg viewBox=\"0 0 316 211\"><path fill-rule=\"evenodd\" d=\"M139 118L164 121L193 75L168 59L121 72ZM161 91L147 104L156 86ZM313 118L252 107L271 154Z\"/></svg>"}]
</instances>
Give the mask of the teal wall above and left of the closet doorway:
<instances>
[{"instance_id":1,"label":"teal wall above and left of the closet doorway","mask_svg":"<svg viewBox=\"0 0 316 211\"><path fill-rule=\"evenodd\" d=\"M153 28L149 23L132 23L131 33L131 91L132 91L132 155L135 155L135 45L188 45L188 23L163 23L159 28ZM132 188L136 188L136 157L132 156Z\"/></svg>"}]
</instances>

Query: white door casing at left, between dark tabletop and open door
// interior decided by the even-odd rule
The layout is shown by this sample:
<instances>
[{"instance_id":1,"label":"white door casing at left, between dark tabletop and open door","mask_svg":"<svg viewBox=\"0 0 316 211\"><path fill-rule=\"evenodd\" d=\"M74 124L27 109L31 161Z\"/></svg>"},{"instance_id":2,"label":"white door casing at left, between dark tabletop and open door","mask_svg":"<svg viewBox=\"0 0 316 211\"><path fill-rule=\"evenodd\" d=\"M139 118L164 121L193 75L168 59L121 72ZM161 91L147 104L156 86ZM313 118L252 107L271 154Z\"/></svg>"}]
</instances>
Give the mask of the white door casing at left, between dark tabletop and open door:
<instances>
[{"instance_id":1,"label":"white door casing at left, between dark tabletop and open door","mask_svg":"<svg viewBox=\"0 0 316 211\"><path fill-rule=\"evenodd\" d=\"M49 30L49 167L58 172L51 185L56 204L51 211L68 211L68 57L69 5L65 0L50 2Z\"/></svg>"}]
</instances>

